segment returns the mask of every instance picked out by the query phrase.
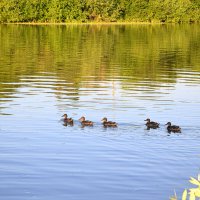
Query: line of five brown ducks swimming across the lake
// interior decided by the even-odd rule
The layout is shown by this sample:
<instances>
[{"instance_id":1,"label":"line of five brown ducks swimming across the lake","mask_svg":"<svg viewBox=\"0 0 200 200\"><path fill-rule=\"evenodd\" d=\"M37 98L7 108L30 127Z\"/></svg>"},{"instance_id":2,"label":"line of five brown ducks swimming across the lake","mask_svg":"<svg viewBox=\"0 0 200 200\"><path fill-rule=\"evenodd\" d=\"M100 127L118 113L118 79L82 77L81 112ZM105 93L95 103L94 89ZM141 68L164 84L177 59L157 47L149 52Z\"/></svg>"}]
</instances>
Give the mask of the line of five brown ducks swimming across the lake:
<instances>
[{"instance_id":1,"label":"line of five brown ducks swimming across the lake","mask_svg":"<svg viewBox=\"0 0 200 200\"><path fill-rule=\"evenodd\" d=\"M63 116L63 122L65 124L69 124L69 125L73 125L74 124L74 120L72 118L68 118L67 114L64 114ZM93 126L94 122L90 121L90 120L86 120L84 116L82 116L79 121L81 122L81 124L83 126ZM108 119L106 117L104 117L102 120L102 124L104 127L117 127L117 123L116 122L112 122L112 121L108 121ZM159 128L159 123L151 121L149 118L147 118L146 120L146 126L147 129L156 129ZM171 122L167 122L167 130L168 132L174 132L174 133L181 133L181 128L179 126L176 125L172 125Z\"/></svg>"}]
</instances>

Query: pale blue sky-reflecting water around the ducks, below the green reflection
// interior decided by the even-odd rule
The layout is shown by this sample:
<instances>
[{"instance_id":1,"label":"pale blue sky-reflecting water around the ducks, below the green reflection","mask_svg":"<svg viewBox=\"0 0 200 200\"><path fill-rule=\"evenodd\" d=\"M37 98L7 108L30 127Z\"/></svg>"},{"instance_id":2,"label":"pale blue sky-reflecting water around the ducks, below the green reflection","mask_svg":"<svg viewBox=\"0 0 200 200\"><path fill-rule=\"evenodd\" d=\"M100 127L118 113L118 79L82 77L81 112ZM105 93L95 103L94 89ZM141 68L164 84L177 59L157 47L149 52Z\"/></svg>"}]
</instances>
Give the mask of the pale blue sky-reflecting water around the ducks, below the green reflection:
<instances>
[{"instance_id":1,"label":"pale blue sky-reflecting water around the ducks, below the green reflection","mask_svg":"<svg viewBox=\"0 0 200 200\"><path fill-rule=\"evenodd\" d=\"M83 82L74 100L70 84L56 78L46 84L47 77L40 78L32 76L31 84L23 82L11 101L3 102L3 111L12 115L0 122L0 196L167 199L174 188L180 194L189 187L189 177L199 169L198 85L129 83L123 89L120 81ZM75 119L73 127L62 126L63 113ZM94 127L81 128L81 115ZM119 127L104 129L103 116ZM145 130L147 116L158 120L160 129ZM183 133L169 136L164 126L169 120Z\"/></svg>"}]
</instances>

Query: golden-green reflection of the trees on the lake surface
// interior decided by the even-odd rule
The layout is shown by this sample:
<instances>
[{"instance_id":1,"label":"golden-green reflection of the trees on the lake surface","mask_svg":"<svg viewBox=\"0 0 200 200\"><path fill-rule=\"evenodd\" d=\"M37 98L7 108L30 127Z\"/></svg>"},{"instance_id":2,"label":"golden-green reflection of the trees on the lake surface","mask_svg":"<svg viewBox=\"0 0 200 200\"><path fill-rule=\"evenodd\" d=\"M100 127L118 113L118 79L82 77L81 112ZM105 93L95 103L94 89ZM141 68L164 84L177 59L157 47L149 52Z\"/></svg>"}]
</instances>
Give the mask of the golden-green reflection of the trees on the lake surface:
<instances>
[{"instance_id":1,"label":"golden-green reflection of the trees on the lake surface","mask_svg":"<svg viewBox=\"0 0 200 200\"><path fill-rule=\"evenodd\" d=\"M0 32L1 82L20 83L22 76L52 73L67 83L64 96L74 101L80 87L100 87L88 80L121 77L124 88L127 81L146 80L147 87L151 82L159 88L159 84L176 82L176 69L200 71L200 29L195 25L1 25ZM1 98L18 87L1 84ZM54 92L63 98L62 86Z\"/></svg>"}]
</instances>

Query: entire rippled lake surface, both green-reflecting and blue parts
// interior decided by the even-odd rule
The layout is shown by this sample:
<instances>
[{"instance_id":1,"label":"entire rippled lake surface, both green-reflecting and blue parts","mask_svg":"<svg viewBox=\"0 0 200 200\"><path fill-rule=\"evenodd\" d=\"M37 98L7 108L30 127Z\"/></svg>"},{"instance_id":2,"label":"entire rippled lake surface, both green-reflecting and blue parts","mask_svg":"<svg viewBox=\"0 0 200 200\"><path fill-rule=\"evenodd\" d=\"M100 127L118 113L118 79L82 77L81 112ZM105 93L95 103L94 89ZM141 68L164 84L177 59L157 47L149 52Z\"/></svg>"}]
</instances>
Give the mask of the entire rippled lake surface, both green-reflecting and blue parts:
<instances>
[{"instance_id":1,"label":"entire rippled lake surface, both green-reflecting and blue parts","mask_svg":"<svg viewBox=\"0 0 200 200\"><path fill-rule=\"evenodd\" d=\"M0 199L181 196L200 169L199 41L199 25L0 25Z\"/></svg>"}]
</instances>

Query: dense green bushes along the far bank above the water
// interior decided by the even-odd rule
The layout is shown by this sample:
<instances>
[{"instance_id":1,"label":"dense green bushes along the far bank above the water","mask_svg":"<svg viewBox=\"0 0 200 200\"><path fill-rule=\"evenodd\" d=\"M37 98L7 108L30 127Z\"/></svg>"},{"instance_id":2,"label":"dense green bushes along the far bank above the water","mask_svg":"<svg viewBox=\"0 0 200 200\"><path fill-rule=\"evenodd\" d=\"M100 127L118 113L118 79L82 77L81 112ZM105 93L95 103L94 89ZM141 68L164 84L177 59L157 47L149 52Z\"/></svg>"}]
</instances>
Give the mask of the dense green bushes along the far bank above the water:
<instances>
[{"instance_id":1,"label":"dense green bushes along the far bank above the water","mask_svg":"<svg viewBox=\"0 0 200 200\"><path fill-rule=\"evenodd\" d=\"M200 21L199 0L1 0L0 22Z\"/></svg>"}]
</instances>

